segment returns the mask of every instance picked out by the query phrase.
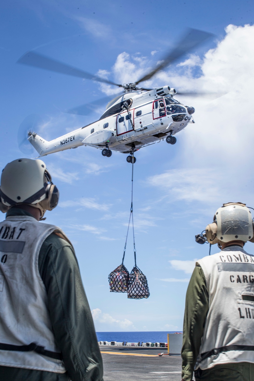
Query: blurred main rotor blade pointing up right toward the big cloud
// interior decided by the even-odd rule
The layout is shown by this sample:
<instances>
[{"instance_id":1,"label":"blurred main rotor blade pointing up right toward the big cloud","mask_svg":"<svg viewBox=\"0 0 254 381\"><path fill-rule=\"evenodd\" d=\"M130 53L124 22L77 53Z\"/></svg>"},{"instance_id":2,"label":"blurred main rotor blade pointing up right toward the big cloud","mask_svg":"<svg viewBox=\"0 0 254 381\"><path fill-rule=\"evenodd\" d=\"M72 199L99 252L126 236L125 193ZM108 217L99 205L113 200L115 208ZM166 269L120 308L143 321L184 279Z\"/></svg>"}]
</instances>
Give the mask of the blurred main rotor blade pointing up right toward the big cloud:
<instances>
[{"instance_id":1,"label":"blurred main rotor blade pointing up right toward the big cloud","mask_svg":"<svg viewBox=\"0 0 254 381\"><path fill-rule=\"evenodd\" d=\"M166 55L163 62L159 66L155 67L155 69L153 69L149 74L139 79L136 83L138 84L139 82L149 80L158 71L162 70L164 67L168 66L180 57L184 56L184 54L189 53L191 50L193 50L202 42L208 40L208 38L211 38L212 36L213 34L204 32L203 30L188 28L188 31L184 35L182 40L176 45L176 47L173 50L170 51L169 54Z\"/></svg>"}]
</instances>

